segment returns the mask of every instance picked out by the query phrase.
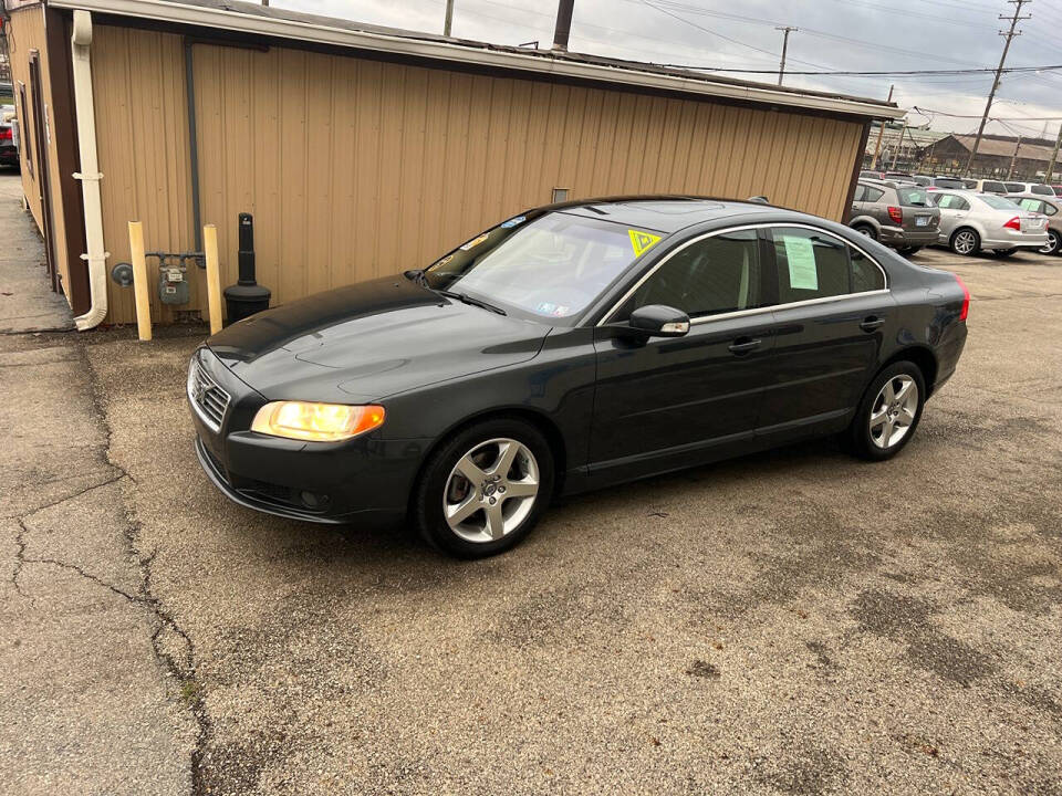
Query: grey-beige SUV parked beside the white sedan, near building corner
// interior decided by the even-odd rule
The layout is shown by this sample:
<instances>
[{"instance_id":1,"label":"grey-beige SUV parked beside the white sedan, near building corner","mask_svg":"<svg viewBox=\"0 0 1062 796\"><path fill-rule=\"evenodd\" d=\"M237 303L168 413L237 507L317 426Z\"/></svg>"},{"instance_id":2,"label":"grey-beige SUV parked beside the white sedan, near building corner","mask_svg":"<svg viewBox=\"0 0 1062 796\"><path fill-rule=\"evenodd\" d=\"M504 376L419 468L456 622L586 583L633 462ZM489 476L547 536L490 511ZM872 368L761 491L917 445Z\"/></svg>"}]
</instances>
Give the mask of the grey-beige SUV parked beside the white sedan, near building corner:
<instances>
[{"instance_id":1,"label":"grey-beige SUV parked beside the white sedan, near building corner","mask_svg":"<svg viewBox=\"0 0 1062 796\"><path fill-rule=\"evenodd\" d=\"M940 210L922 186L867 179L855 186L848 226L900 254L936 243L939 224Z\"/></svg>"}]
</instances>

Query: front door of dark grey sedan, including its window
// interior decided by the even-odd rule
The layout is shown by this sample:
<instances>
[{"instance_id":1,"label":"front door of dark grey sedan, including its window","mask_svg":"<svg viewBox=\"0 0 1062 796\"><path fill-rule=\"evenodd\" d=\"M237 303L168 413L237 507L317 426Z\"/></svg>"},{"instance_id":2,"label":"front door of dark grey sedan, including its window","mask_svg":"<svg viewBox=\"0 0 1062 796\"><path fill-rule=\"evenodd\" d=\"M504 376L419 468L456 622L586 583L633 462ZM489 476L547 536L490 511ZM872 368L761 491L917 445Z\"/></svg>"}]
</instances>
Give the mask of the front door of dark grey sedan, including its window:
<instances>
[{"instance_id":1,"label":"front door of dark grey sedan, including its window","mask_svg":"<svg viewBox=\"0 0 1062 796\"><path fill-rule=\"evenodd\" d=\"M596 332L591 474L623 480L696 463L754 433L773 318L754 229L710 233L666 256ZM649 304L686 312L689 333L633 339Z\"/></svg>"}]
</instances>

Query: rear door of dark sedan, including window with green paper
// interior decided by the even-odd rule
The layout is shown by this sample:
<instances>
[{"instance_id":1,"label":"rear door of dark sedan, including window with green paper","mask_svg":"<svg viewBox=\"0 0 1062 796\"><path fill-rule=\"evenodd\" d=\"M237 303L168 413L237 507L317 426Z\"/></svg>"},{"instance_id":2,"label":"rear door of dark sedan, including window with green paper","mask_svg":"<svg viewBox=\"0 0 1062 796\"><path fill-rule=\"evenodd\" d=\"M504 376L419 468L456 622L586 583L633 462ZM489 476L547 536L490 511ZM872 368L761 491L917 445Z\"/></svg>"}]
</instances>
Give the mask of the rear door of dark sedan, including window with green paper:
<instances>
[{"instance_id":1,"label":"rear door of dark sedan, including window with green paper","mask_svg":"<svg viewBox=\"0 0 1062 796\"><path fill-rule=\"evenodd\" d=\"M884 270L843 239L811 226L764 230L777 283L771 383L760 406L764 434L843 427L895 337L896 303Z\"/></svg>"}]
</instances>

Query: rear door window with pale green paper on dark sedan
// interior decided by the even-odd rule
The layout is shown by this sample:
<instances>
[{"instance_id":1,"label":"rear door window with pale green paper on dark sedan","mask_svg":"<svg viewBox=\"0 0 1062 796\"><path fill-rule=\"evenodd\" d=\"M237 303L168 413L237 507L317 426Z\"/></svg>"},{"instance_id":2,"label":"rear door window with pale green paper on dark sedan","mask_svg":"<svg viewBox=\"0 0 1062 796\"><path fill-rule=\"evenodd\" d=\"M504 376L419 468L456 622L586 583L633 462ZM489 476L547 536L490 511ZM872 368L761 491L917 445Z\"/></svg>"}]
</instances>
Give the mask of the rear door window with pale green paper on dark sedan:
<instances>
[{"instance_id":1,"label":"rear door window with pale green paper on dark sedan","mask_svg":"<svg viewBox=\"0 0 1062 796\"><path fill-rule=\"evenodd\" d=\"M775 227L771 238L780 304L851 292L848 247L841 240L800 227Z\"/></svg>"}]
</instances>

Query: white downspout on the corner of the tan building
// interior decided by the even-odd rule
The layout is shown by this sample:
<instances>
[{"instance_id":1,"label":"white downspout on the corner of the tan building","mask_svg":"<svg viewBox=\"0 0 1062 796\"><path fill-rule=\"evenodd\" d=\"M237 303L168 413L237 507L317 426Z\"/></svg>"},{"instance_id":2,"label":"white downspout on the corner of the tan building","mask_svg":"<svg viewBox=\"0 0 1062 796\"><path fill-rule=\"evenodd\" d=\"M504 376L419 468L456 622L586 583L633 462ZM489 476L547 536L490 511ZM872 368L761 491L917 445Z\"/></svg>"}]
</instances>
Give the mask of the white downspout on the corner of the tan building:
<instances>
[{"instance_id":1,"label":"white downspout on the corner of the tan building","mask_svg":"<svg viewBox=\"0 0 1062 796\"><path fill-rule=\"evenodd\" d=\"M96 114L92 100L92 64L88 49L92 45L92 14L74 11L74 34L70 38L74 65L74 108L77 114L77 143L81 154L81 171L74 179L81 180L81 195L85 206L85 242L88 253L88 292L92 305L84 315L74 318L77 328L98 326L107 314L107 258L103 250L103 208L100 202L100 161L96 159Z\"/></svg>"}]
</instances>

